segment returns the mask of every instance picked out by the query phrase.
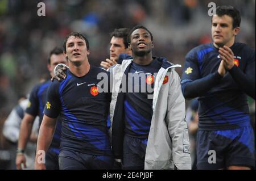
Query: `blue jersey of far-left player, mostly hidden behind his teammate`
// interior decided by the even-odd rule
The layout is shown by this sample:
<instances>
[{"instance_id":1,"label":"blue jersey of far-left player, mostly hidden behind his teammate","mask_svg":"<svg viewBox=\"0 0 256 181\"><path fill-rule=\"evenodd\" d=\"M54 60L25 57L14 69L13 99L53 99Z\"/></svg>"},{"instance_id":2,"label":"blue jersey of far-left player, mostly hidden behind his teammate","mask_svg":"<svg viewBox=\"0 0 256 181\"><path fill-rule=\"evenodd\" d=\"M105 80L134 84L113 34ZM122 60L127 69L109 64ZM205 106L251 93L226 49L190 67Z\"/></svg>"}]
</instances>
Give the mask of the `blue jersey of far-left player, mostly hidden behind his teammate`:
<instances>
[{"instance_id":1,"label":"blue jersey of far-left player, mostly hidden behind his teammate","mask_svg":"<svg viewBox=\"0 0 256 181\"><path fill-rule=\"evenodd\" d=\"M50 84L51 84L50 80L40 83L39 85L36 85L30 93L30 98L26 108L26 113L35 117L39 116L39 124L41 124L43 120L43 116L44 116L43 111L44 111L44 105L46 105L47 89ZM60 137L61 137L61 123L60 123L60 120L57 120L55 133L53 135L53 139L52 139L49 151L53 151L59 154Z\"/></svg>"}]
</instances>

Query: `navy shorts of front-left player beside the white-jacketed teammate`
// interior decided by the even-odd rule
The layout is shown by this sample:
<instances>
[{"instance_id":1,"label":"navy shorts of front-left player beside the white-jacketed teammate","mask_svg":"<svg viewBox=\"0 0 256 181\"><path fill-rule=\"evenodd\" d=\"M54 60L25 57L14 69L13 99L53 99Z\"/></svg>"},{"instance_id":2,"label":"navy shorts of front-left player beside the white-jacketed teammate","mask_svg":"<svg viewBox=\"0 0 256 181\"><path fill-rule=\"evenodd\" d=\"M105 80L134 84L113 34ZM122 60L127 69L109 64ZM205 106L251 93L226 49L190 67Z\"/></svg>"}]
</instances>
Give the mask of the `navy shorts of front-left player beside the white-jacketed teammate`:
<instances>
[{"instance_id":1,"label":"navy shorts of front-left player beside the white-jacketed teammate","mask_svg":"<svg viewBox=\"0 0 256 181\"><path fill-rule=\"evenodd\" d=\"M113 156L91 155L63 149L59 154L60 170L106 170L112 169Z\"/></svg>"}]
</instances>

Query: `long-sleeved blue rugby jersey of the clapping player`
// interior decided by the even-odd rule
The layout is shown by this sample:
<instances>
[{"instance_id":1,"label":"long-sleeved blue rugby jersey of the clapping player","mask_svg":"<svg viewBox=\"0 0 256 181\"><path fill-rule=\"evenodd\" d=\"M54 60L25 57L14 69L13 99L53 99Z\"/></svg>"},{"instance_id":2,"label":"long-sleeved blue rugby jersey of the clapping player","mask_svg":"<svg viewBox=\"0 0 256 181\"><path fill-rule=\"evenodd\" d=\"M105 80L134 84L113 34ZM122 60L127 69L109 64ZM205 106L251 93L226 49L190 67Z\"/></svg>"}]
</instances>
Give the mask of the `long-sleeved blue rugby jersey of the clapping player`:
<instances>
[{"instance_id":1,"label":"long-sleeved blue rugby jersey of the clapping player","mask_svg":"<svg viewBox=\"0 0 256 181\"><path fill-rule=\"evenodd\" d=\"M185 57L181 87L185 98L199 97L200 129L250 125L247 95L255 99L255 50L242 43L230 48L235 65L223 78L217 72L221 58L213 44L200 45Z\"/></svg>"}]
</instances>

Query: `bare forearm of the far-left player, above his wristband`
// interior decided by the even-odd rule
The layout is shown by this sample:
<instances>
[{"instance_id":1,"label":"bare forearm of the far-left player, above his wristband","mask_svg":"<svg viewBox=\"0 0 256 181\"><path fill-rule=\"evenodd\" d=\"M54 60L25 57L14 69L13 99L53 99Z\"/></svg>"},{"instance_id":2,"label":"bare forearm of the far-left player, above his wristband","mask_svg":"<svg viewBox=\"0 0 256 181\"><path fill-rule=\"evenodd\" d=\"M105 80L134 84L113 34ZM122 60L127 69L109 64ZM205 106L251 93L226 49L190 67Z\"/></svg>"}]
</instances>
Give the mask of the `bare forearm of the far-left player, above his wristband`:
<instances>
[{"instance_id":1,"label":"bare forearm of the far-left player, above his wristband","mask_svg":"<svg viewBox=\"0 0 256 181\"><path fill-rule=\"evenodd\" d=\"M18 148L25 149L27 146L27 142L30 139L30 134L32 130L33 121L24 119L20 124L20 132L19 132L19 142Z\"/></svg>"}]
</instances>

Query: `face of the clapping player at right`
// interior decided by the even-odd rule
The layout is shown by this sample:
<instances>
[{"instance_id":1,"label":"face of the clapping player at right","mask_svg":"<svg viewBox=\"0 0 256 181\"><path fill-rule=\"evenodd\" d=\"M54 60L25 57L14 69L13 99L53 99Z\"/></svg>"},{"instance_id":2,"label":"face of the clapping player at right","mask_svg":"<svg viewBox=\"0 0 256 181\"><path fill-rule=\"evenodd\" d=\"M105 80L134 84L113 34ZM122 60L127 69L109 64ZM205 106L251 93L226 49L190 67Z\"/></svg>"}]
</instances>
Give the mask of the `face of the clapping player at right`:
<instances>
[{"instance_id":1,"label":"face of the clapping player at right","mask_svg":"<svg viewBox=\"0 0 256 181\"><path fill-rule=\"evenodd\" d=\"M231 47L240 28L233 28L233 19L228 15L213 15L212 39L215 47Z\"/></svg>"}]
</instances>

